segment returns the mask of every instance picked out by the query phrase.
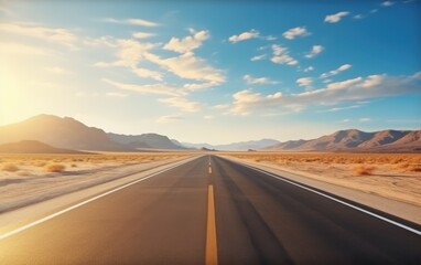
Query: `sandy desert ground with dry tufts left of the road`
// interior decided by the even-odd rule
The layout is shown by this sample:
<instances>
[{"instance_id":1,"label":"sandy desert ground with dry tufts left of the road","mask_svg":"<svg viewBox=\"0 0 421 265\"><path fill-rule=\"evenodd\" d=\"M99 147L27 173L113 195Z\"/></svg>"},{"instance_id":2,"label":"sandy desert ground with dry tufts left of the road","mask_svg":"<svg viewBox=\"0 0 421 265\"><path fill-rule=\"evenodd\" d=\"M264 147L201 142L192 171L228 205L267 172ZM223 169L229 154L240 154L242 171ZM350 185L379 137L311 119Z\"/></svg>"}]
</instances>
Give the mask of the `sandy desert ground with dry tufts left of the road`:
<instances>
[{"instance_id":1,"label":"sandy desert ground with dry tufts left of the road","mask_svg":"<svg viewBox=\"0 0 421 265\"><path fill-rule=\"evenodd\" d=\"M0 213L190 156L183 152L0 155Z\"/></svg>"}]
</instances>

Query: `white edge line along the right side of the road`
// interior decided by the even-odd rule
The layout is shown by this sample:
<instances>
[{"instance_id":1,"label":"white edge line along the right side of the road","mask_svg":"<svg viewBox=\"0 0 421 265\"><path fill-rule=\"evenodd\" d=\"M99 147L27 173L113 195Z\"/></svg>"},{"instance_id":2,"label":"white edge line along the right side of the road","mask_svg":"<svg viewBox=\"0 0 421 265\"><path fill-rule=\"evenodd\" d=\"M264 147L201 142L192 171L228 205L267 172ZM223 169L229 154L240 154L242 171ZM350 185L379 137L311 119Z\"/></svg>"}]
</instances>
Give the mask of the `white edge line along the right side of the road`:
<instances>
[{"instance_id":1,"label":"white edge line along the right side of the road","mask_svg":"<svg viewBox=\"0 0 421 265\"><path fill-rule=\"evenodd\" d=\"M230 161L233 161L233 160L230 160ZM235 162L235 161L233 161L233 162ZM249 166L249 165L246 165L246 163L241 163L241 162L237 162L237 163L240 163L240 165L242 165L242 166L245 166L245 167L247 167L247 168L250 168L250 169L253 169L253 170L259 171L259 172L261 172L261 173L265 173L265 174L267 174L267 176L269 176L269 177L272 177L272 178L274 178L274 179L278 179L278 180L288 182L288 183L290 183L290 184L300 187L300 188L302 188L302 189L304 189L304 190L311 191L311 192L316 193L316 194L319 194L319 195L322 195L322 197L324 197L324 198L331 199L331 200L333 200L333 201L335 201L335 202L342 203L342 204L344 204L344 205L346 205L346 206L353 208L353 209L355 209L355 210L357 210L357 211L360 211L360 212L366 213L366 214L368 214L368 215L371 215L371 216L374 216L374 218L380 219L380 220L382 220L382 221L385 221L385 222L388 222L388 223L390 223L390 224L393 224L393 225L396 225L396 226L399 226L399 227L401 227L401 229L404 229L404 230L407 230L407 231L410 231L410 232L412 232L412 233L414 233L414 234L421 235L421 231L418 231L418 230L415 230L415 229L412 229L412 227L410 227L410 226L408 226L408 225L401 224L401 223L396 222L396 221L393 221L393 220L390 220L390 219L388 219L388 218L381 216L381 215L379 215L379 214L373 213L373 212L367 211L367 210L365 210L365 209L363 209L363 208L353 205L353 204L350 204L350 203L348 203L348 202L345 202L345 201L342 201L342 200L336 199L336 198L334 198L334 197L327 195L327 194L325 194L325 193L323 193L323 192L313 190L313 189L311 189L311 188L309 188L309 187L305 187L305 186L295 183L295 182L290 181L290 180L288 180L288 179L280 178L280 177L277 176L277 174L273 174L273 173L263 171L263 170L258 169L258 168L255 168L255 167L252 167L252 166Z\"/></svg>"}]
</instances>

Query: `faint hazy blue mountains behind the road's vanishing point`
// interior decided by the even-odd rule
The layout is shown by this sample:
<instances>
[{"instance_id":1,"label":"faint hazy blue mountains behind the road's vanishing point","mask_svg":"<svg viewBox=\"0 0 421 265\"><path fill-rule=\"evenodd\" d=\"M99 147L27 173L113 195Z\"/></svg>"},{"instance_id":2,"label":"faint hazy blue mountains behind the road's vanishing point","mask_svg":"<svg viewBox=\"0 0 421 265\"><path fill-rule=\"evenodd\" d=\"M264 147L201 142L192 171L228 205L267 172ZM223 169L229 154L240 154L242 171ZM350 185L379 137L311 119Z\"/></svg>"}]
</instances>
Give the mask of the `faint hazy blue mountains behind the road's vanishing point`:
<instances>
[{"instance_id":1,"label":"faint hazy blue mountains behind the road's vanishing point","mask_svg":"<svg viewBox=\"0 0 421 265\"><path fill-rule=\"evenodd\" d=\"M234 150L234 151L245 151L249 149L263 149L273 145L280 144L278 140L273 139L261 139L261 140L250 140L250 141L239 141L228 145L208 145L208 144L188 144L182 142L183 146L190 148L206 148L216 150Z\"/></svg>"}]
</instances>

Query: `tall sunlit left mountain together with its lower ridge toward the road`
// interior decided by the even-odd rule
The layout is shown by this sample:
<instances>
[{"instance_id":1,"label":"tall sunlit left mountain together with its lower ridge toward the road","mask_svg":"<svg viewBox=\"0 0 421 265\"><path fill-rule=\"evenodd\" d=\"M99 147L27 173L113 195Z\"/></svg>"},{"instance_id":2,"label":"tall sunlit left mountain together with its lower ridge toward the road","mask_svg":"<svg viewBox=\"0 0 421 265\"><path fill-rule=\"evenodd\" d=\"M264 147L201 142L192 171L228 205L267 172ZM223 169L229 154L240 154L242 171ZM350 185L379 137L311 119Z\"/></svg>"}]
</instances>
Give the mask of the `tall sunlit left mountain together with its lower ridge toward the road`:
<instances>
[{"instance_id":1,"label":"tall sunlit left mountain together with its lower ridge toward the road","mask_svg":"<svg viewBox=\"0 0 421 265\"><path fill-rule=\"evenodd\" d=\"M54 148L97 151L137 151L138 148L183 149L166 136L106 134L74 118L37 115L24 121L0 126L0 145L34 140Z\"/></svg>"}]
</instances>

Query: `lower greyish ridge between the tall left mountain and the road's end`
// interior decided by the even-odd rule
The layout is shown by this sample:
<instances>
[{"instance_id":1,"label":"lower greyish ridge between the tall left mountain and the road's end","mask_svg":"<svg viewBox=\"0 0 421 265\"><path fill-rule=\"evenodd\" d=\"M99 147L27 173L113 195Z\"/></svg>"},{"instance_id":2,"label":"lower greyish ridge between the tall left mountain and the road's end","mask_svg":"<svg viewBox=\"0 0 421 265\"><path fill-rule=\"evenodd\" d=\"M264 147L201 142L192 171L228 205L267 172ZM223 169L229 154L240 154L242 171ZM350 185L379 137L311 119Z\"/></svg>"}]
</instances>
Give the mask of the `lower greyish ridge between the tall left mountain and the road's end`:
<instances>
[{"instance_id":1,"label":"lower greyish ridge between the tall left mountain and the road's end","mask_svg":"<svg viewBox=\"0 0 421 265\"><path fill-rule=\"evenodd\" d=\"M117 135L109 132L107 135L110 140L131 148L185 149L169 137L158 134Z\"/></svg>"}]
</instances>

